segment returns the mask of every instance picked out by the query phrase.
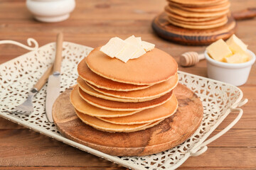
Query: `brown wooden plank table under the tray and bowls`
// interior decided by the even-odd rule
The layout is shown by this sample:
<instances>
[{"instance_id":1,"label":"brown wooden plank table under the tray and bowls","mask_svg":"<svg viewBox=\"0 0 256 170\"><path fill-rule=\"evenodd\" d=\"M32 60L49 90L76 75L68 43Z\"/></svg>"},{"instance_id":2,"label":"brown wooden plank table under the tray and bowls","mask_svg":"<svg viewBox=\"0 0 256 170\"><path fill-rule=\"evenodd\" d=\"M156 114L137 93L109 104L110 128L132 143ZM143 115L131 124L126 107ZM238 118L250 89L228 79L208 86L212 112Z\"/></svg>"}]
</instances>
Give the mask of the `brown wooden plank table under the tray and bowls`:
<instances>
[{"instance_id":1,"label":"brown wooden plank table under the tray and bowls","mask_svg":"<svg viewBox=\"0 0 256 170\"><path fill-rule=\"evenodd\" d=\"M63 31L65 40L97 47L109 38L142 36L156 47L178 55L187 51L203 51L205 47L176 45L158 38L151 21L163 11L166 1L77 0L77 6L67 21L40 23L26 9L25 1L0 0L0 40L17 40L26 44L35 38L39 45L55 41ZM256 6L255 0L233 0L232 11ZM256 18L239 21L236 35L256 52ZM0 45L0 64L26 53L21 47ZM206 61L181 71L206 77ZM1 73L0 73L1 74ZM242 107L240 121L225 135L208 145L208 151L189 158L180 169L256 169L256 67L252 66L247 84L240 86L249 102ZM213 135L220 132L236 116L230 113ZM117 164L87 154L79 149L40 135L20 125L0 118L0 169L124 169Z\"/></svg>"}]
</instances>

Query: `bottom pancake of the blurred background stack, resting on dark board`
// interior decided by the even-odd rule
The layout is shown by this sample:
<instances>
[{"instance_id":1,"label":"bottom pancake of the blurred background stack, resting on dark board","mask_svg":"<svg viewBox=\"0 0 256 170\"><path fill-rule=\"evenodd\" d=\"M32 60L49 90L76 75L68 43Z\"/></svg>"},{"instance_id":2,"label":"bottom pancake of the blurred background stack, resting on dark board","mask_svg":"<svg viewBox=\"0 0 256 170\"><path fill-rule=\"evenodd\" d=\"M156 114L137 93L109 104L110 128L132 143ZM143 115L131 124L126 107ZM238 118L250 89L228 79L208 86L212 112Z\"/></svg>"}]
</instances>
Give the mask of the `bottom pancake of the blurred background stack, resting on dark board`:
<instances>
[{"instance_id":1,"label":"bottom pancake of the blurred background stack, resting on dark board","mask_svg":"<svg viewBox=\"0 0 256 170\"><path fill-rule=\"evenodd\" d=\"M182 28L190 28L190 29L209 29L209 28L216 28L219 26L223 26L225 25L225 23L228 22L227 21L223 21L220 23L214 23L214 24L210 24L210 25L204 25L204 26L193 26L193 25L188 25L188 24L183 24L183 23L177 23L176 21L173 21L171 18L168 18L169 23L173 24L174 26L179 26Z\"/></svg>"}]
</instances>

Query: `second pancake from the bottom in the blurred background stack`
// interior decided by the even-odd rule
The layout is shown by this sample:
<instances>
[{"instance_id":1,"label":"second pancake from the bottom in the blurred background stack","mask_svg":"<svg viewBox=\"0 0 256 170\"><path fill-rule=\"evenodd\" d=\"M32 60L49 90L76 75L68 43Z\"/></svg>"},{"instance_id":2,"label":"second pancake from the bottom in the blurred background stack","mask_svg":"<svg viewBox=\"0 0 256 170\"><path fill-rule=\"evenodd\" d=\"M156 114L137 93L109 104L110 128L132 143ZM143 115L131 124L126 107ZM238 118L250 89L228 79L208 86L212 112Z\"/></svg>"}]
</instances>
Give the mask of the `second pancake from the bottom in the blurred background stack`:
<instances>
[{"instance_id":1,"label":"second pancake from the bottom in the blurred background stack","mask_svg":"<svg viewBox=\"0 0 256 170\"><path fill-rule=\"evenodd\" d=\"M208 25L213 25L215 23L226 23L228 21L227 16L221 16L220 18L210 20L210 21L202 21L202 22L191 22L191 21L179 21L175 18L169 18L170 20L176 22L176 23L181 23L185 25L191 25L191 26L208 26Z\"/></svg>"}]
</instances>

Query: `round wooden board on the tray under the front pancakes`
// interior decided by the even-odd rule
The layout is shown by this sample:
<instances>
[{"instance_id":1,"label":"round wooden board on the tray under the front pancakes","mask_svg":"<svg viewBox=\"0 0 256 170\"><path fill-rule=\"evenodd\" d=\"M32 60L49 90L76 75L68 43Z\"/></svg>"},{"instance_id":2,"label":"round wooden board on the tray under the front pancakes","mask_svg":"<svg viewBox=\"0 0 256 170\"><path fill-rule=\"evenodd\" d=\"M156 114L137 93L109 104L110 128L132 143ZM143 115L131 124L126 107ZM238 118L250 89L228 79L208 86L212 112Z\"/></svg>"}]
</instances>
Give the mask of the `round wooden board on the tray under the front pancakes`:
<instances>
[{"instance_id":1,"label":"round wooden board on the tray under the front pancakes","mask_svg":"<svg viewBox=\"0 0 256 170\"><path fill-rule=\"evenodd\" d=\"M171 149L191 137L201 124L203 106L196 94L181 84L174 93L178 110L158 125L137 132L103 132L82 123L70 103L68 89L53 105L53 120L70 140L115 156L143 156Z\"/></svg>"}]
</instances>

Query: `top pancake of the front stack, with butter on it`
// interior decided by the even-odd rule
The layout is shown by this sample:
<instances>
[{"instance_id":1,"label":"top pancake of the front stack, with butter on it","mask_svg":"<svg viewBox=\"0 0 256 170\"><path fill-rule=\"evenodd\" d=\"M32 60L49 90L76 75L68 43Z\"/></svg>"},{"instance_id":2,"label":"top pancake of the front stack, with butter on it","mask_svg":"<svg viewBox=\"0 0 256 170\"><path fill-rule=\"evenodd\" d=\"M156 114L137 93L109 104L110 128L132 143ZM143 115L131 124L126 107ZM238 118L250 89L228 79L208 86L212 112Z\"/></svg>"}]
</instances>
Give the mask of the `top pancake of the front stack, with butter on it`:
<instances>
[{"instance_id":1,"label":"top pancake of the front stack, with butter on it","mask_svg":"<svg viewBox=\"0 0 256 170\"><path fill-rule=\"evenodd\" d=\"M166 81L178 70L171 55L156 47L146 54L124 63L95 48L86 57L88 67L101 77L127 84L152 85Z\"/></svg>"}]
</instances>

